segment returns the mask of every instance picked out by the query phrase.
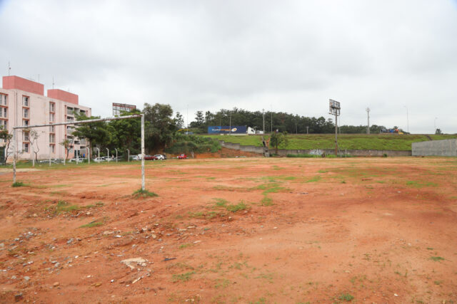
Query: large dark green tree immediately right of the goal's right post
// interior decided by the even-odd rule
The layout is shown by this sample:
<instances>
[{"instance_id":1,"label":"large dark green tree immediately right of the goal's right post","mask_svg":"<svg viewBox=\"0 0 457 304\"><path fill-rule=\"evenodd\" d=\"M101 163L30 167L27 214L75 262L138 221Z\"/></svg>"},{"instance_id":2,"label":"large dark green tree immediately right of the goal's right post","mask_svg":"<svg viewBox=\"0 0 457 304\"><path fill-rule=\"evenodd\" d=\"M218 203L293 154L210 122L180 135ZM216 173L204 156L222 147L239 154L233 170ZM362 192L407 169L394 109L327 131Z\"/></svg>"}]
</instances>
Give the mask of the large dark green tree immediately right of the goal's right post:
<instances>
[{"instance_id":1,"label":"large dark green tree immediately right of the goal's right post","mask_svg":"<svg viewBox=\"0 0 457 304\"><path fill-rule=\"evenodd\" d=\"M173 110L170 105L144 104L144 118L148 122L145 126L145 145L149 150L163 151L174 141L178 122L171 118L172 116Z\"/></svg>"}]
</instances>

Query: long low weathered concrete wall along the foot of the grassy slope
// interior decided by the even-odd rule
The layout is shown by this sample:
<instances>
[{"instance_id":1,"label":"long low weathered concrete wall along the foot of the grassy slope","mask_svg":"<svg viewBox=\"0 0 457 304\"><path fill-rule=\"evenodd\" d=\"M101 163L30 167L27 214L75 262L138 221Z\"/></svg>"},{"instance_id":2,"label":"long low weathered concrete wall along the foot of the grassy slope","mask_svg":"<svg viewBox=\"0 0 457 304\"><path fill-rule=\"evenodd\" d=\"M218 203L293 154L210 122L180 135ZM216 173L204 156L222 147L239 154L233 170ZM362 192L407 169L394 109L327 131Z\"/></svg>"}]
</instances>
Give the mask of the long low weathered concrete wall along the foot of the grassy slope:
<instances>
[{"instance_id":1,"label":"long low weathered concrete wall along the foot of the grassy slope","mask_svg":"<svg viewBox=\"0 0 457 304\"><path fill-rule=\"evenodd\" d=\"M263 154L265 148L258 147L258 146L242 146L240 144L234 144L232 142L222 142L221 146L233 150L240 150L245 152L253 152L258 154ZM270 149L271 153L274 153L274 149ZM333 154L335 150L278 150L278 154L281 156L286 156L287 154L316 154L322 155L325 152L326 154ZM344 154L345 151L340 151L340 153ZM373 156L373 157L381 157L383 154L387 154L387 156L411 156L411 151L396 151L396 150L347 150L347 154L350 156Z\"/></svg>"}]
</instances>

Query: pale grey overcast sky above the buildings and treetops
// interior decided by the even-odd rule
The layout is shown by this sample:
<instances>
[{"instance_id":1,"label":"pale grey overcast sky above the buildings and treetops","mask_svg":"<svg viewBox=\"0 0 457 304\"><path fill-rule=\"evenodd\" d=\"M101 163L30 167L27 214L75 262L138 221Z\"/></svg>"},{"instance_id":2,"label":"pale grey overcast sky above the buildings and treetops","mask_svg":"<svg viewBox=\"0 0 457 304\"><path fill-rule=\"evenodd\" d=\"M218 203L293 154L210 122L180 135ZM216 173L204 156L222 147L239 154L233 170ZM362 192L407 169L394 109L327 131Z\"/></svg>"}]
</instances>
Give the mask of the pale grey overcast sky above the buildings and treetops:
<instances>
[{"instance_id":1,"label":"pale grey overcast sky above the buildings and treetops","mask_svg":"<svg viewBox=\"0 0 457 304\"><path fill-rule=\"evenodd\" d=\"M111 103L457 132L457 1L0 0L0 73ZM185 119L186 122L186 119Z\"/></svg>"}]
</instances>

